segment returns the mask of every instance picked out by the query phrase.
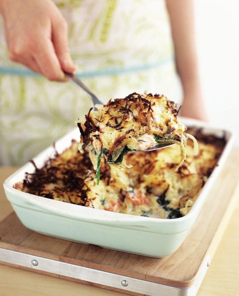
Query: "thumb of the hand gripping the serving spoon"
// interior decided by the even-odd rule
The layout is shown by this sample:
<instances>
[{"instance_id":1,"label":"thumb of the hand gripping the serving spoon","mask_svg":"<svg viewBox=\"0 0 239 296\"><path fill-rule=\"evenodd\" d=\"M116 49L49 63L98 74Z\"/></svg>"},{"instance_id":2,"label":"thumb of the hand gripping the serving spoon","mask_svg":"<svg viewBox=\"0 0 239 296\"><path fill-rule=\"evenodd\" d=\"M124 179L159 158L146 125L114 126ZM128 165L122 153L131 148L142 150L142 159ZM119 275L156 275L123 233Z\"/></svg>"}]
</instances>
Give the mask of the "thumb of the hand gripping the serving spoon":
<instances>
[{"instance_id":1,"label":"thumb of the hand gripping the serving spoon","mask_svg":"<svg viewBox=\"0 0 239 296\"><path fill-rule=\"evenodd\" d=\"M67 73L75 73L77 70L77 64L73 62L69 52L68 31L65 20L60 23L58 22L57 27L54 27L53 24L52 42L63 71Z\"/></svg>"}]
</instances>

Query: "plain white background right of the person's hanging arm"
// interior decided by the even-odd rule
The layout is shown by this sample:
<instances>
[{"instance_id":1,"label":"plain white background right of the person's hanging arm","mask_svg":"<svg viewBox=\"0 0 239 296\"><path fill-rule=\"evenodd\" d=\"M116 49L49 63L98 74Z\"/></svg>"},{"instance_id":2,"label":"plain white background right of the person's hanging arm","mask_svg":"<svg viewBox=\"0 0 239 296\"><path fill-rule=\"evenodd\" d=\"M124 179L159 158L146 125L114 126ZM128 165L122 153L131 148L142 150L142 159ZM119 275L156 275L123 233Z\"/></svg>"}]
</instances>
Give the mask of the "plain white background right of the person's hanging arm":
<instances>
[{"instance_id":1,"label":"plain white background right of the person's hanging arm","mask_svg":"<svg viewBox=\"0 0 239 296\"><path fill-rule=\"evenodd\" d=\"M239 1L195 0L199 65L210 122L239 146Z\"/></svg>"}]
</instances>

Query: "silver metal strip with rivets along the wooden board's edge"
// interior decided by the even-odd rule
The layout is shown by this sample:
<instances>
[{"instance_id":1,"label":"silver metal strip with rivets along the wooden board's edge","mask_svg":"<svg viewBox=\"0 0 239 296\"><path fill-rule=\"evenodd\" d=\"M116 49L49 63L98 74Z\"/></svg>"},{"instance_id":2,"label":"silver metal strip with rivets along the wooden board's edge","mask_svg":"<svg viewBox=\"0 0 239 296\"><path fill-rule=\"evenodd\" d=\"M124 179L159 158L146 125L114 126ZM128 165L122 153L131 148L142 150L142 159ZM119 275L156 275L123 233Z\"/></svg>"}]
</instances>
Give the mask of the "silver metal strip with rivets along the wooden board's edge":
<instances>
[{"instance_id":1,"label":"silver metal strip with rivets along the wooden board's edge","mask_svg":"<svg viewBox=\"0 0 239 296\"><path fill-rule=\"evenodd\" d=\"M157 284L2 248L0 248L0 261L150 296L194 296L207 272L210 256L206 257L198 279L189 288Z\"/></svg>"}]
</instances>

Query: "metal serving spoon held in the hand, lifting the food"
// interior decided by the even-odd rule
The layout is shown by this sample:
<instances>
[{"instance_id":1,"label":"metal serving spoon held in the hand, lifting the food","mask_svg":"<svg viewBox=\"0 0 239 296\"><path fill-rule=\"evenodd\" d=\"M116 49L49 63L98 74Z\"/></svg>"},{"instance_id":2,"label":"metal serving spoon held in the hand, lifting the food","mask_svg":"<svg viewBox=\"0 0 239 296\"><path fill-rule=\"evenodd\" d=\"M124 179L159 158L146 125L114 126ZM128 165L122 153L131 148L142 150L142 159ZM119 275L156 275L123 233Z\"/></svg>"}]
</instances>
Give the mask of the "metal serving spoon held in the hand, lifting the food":
<instances>
[{"instance_id":1,"label":"metal serving spoon held in the hand, lifting the food","mask_svg":"<svg viewBox=\"0 0 239 296\"><path fill-rule=\"evenodd\" d=\"M69 73L65 73L66 77L77 87L81 88L85 94L87 94L88 97L91 98L91 100L93 101L94 104L94 108L96 109L95 105L96 104L100 104L100 105L104 105L97 97L94 93L91 92L91 90L89 90L89 88L87 88L87 86L85 86L85 84L83 84L83 82L78 79L75 75L73 74L69 74ZM142 151L153 151L153 150L158 150L158 149L162 149L162 148L166 148L169 146L175 145L175 143L169 143L169 144L156 144L155 146L149 147L146 150L135 150L132 152L142 152Z\"/></svg>"}]
</instances>

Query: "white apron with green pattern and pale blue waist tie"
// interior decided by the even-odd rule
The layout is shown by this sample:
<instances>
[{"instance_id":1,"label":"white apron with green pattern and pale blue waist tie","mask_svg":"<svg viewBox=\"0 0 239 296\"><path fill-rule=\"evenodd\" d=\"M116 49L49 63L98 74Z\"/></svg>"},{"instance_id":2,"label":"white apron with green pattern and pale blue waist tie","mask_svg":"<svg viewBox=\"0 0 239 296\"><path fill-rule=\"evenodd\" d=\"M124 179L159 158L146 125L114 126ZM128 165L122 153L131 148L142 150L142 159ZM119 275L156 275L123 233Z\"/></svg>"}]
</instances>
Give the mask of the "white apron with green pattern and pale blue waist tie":
<instances>
[{"instance_id":1,"label":"white apron with green pattern and pale blue waist tie","mask_svg":"<svg viewBox=\"0 0 239 296\"><path fill-rule=\"evenodd\" d=\"M68 22L77 76L106 103L129 93L182 91L163 0L56 0ZM0 164L22 165L75 127L91 100L7 57L0 19Z\"/></svg>"}]
</instances>

